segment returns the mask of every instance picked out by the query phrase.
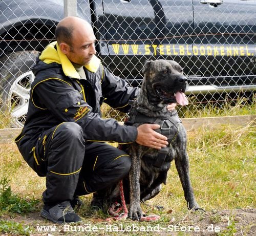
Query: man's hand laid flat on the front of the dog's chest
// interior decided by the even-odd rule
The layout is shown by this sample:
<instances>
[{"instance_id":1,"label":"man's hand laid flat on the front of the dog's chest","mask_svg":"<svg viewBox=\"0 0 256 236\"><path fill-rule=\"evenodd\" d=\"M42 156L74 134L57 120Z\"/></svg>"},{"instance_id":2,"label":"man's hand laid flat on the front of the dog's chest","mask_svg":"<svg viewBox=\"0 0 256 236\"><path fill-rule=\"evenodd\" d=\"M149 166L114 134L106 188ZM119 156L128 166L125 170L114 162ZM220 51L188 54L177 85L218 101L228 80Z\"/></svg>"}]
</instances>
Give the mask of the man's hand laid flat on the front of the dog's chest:
<instances>
[{"instance_id":1,"label":"man's hand laid flat on the front of the dog's chest","mask_svg":"<svg viewBox=\"0 0 256 236\"><path fill-rule=\"evenodd\" d=\"M138 144L147 147L153 147L155 149L161 149L161 147L166 147L168 142L167 138L154 130L160 128L158 124L142 124L137 127L138 136L135 140Z\"/></svg>"}]
</instances>

